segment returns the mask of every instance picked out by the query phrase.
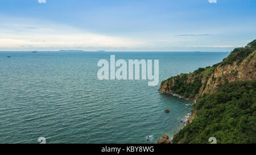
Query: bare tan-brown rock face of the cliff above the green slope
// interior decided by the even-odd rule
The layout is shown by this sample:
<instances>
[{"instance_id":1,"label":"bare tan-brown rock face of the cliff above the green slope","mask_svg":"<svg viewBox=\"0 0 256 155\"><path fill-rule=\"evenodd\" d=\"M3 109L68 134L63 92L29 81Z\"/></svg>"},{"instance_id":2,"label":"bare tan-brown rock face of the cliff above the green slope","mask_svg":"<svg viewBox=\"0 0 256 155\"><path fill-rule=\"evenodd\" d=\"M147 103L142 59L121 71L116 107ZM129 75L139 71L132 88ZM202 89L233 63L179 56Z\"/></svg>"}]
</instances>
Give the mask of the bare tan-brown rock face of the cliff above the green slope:
<instances>
[{"instance_id":1,"label":"bare tan-brown rock face of the cliff above the green slope","mask_svg":"<svg viewBox=\"0 0 256 155\"><path fill-rule=\"evenodd\" d=\"M201 80L201 86L198 93L193 97L185 97L188 99L197 100L203 94L216 93L218 85L224 84L225 82L253 80L256 78L255 54L256 51L252 52L241 62L240 60L236 60L232 64L216 64L216 68L214 68L213 72L210 74L203 74L200 72L180 74L179 76L171 77L161 82L158 91L162 93L175 94L172 87L176 85L176 79L182 79L183 76L187 76L184 83L191 83L195 81L196 78L200 77L199 79ZM179 95L180 97L183 97L181 94Z\"/></svg>"}]
</instances>

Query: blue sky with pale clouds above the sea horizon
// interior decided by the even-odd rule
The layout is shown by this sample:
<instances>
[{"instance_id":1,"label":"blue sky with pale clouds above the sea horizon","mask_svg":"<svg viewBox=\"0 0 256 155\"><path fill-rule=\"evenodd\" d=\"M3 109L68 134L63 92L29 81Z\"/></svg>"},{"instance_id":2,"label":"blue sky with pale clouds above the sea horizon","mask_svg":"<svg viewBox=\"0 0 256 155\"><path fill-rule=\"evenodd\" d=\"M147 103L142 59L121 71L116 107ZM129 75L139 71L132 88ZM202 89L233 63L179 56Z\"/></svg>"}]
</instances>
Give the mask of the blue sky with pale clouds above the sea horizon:
<instances>
[{"instance_id":1,"label":"blue sky with pale clouds above the sea horizon","mask_svg":"<svg viewBox=\"0 0 256 155\"><path fill-rule=\"evenodd\" d=\"M1 0L0 51L232 51L255 0Z\"/></svg>"}]
</instances>

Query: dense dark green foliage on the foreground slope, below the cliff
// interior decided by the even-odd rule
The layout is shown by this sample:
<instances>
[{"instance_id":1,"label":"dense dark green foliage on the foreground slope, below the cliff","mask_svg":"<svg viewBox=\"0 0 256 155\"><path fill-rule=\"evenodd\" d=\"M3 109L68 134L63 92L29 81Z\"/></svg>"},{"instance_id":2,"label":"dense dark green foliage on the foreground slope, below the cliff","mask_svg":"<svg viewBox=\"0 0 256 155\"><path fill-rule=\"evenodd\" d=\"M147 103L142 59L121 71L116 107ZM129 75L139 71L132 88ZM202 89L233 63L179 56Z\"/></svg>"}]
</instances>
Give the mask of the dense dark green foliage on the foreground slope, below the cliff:
<instances>
[{"instance_id":1,"label":"dense dark green foliage on the foreground slope, below the cliff","mask_svg":"<svg viewBox=\"0 0 256 155\"><path fill-rule=\"evenodd\" d=\"M194 104L196 117L173 139L173 143L256 143L256 80L230 82L218 92L204 94Z\"/></svg>"}]
</instances>

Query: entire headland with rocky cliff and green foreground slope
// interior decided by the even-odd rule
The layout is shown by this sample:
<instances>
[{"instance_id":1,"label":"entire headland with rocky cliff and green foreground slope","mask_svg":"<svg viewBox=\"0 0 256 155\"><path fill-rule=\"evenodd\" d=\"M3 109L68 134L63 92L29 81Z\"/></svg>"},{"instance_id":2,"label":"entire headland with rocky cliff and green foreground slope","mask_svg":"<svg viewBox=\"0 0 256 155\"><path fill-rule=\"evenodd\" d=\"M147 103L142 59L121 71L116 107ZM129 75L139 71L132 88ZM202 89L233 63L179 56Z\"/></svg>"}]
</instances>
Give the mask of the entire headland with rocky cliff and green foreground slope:
<instances>
[{"instance_id":1,"label":"entire headland with rocky cliff and green foreground slope","mask_svg":"<svg viewBox=\"0 0 256 155\"><path fill-rule=\"evenodd\" d=\"M193 100L187 124L165 143L256 143L256 40L218 64L162 81L158 91Z\"/></svg>"}]
</instances>

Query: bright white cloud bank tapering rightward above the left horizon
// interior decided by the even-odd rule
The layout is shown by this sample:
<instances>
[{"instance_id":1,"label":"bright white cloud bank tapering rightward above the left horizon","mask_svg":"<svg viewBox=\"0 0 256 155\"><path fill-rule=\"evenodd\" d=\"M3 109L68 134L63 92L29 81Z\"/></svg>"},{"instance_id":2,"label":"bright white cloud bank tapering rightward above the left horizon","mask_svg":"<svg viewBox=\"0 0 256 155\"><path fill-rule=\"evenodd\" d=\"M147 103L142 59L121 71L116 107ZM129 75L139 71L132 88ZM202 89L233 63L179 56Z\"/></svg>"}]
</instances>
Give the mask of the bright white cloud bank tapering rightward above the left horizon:
<instances>
[{"instance_id":1,"label":"bright white cloud bank tapering rightward above the left horizon","mask_svg":"<svg viewBox=\"0 0 256 155\"><path fill-rule=\"evenodd\" d=\"M92 33L37 19L18 21L13 19L0 26L0 49L108 49L136 48L144 44L128 37Z\"/></svg>"}]
</instances>

